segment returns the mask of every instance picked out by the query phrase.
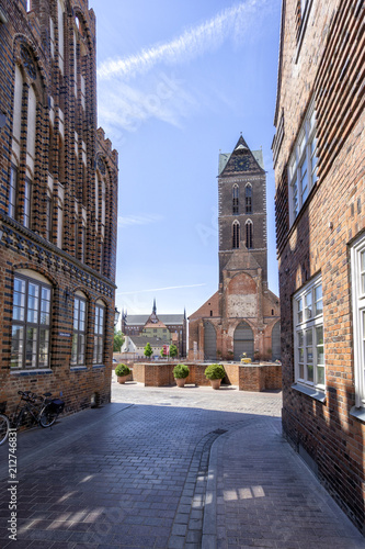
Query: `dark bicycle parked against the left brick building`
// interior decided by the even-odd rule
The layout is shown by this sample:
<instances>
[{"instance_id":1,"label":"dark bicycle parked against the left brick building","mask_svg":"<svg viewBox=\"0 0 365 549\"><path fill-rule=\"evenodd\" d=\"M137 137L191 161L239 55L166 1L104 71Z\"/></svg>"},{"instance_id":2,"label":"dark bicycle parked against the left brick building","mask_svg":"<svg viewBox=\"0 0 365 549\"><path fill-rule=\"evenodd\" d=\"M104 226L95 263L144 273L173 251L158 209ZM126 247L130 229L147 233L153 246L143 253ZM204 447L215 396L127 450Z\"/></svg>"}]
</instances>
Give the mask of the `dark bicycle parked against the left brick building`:
<instances>
[{"instance_id":1,"label":"dark bicycle parked against the left brick building","mask_svg":"<svg viewBox=\"0 0 365 549\"><path fill-rule=\"evenodd\" d=\"M19 429L23 423L50 427L65 407L64 401L50 399L52 393L38 396L31 391L18 391L18 394L21 399L12 418L5 414L7 402L0 403L0 445L8 439L10 429Z\"/></svg>"}]
</instances>

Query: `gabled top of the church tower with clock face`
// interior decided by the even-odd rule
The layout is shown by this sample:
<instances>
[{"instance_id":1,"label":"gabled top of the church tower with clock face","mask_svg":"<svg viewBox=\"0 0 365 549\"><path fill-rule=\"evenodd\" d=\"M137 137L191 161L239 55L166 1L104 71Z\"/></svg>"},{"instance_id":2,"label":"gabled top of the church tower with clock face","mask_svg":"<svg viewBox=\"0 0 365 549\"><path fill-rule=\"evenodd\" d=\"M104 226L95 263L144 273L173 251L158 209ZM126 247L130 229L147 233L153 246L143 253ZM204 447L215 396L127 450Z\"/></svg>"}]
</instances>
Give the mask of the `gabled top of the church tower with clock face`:
<instances>
[{"instance_id":1,"label":"gabled top of the church tower with clock face","mask_svg":"<svg viewBox=\"0 0 365 549\"><path fill-rule=\"evenodd\" d=\"M228 176L240 171L264 171L262 150L250 150L242 135L231 154L219 154L218 176Z\"/></svg>"}]
</instances>

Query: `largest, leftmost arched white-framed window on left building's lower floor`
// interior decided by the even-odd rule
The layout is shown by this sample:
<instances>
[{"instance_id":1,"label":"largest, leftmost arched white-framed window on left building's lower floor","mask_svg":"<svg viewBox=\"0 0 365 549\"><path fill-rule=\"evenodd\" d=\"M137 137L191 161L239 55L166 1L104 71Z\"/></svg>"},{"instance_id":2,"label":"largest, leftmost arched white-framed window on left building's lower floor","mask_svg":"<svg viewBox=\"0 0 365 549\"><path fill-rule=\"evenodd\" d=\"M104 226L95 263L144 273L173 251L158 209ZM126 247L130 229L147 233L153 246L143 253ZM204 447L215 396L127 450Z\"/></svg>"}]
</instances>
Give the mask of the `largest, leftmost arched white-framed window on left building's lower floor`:
<instances>
[{"instance_id":1,"label":"largest, leftmost arched white-framed window on left building's lower floor","mask_svg":"<svg viewBox=\"0 0 365 549\"><path fill-rule=\"evenodd\" d=\"M50 298L46 282L15 274L11 368L48 367Z\"/></svg>"}]
</instances>

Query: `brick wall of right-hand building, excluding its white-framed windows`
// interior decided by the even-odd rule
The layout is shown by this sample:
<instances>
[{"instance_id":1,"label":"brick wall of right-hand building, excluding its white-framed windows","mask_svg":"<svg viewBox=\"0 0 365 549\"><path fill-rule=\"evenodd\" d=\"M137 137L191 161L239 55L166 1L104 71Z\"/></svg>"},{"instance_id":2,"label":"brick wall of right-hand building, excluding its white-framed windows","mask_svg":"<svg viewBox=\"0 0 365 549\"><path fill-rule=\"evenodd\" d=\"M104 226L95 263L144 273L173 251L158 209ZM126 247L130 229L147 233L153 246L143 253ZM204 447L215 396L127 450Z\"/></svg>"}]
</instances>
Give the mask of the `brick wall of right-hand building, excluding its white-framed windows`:
<instances>
[{"instance_id":1,"label":"brick wall of right-hand building, excluding its white-framed windows","mask_svg":"<svg viewBox=\"0 0 365 549\"><path fill-rule=\"evenodd\" d=\"M365 425L355 405L350 248L365 229L364 2L283 2L274 139L283 361L283 426L364 531ZM315 99L319 179L289 225L287 165ZM295 381L293 294L315 274L323 289L326 401Z\"/></svg>"}]
</instances>

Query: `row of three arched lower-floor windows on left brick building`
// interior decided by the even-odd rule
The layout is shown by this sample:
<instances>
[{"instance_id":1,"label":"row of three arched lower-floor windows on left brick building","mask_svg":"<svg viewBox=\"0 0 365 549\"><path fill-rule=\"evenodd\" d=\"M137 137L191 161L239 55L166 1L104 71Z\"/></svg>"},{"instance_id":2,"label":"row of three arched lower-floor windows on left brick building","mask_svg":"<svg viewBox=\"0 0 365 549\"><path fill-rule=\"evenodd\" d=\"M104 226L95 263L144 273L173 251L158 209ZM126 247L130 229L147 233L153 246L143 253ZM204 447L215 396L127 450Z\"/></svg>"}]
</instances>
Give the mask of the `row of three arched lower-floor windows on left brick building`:
<instances>
[{"instance_id":1,"label":"row of three arched lower-floor windows on left brick building","mask_svg":"<svg viewBox=\"0 0 365 549\"><path fill-rule=\"evenodd\" d=\"M49 368L50 305L53 289L44 281L22 274L14 278L11 367L16 369ZM95 304L93 359L103 363L105 306ZM73 302L71 366L85 366L88 300L78 292Z\"/></svg>"}]
</instances>

